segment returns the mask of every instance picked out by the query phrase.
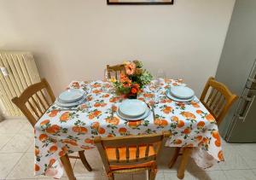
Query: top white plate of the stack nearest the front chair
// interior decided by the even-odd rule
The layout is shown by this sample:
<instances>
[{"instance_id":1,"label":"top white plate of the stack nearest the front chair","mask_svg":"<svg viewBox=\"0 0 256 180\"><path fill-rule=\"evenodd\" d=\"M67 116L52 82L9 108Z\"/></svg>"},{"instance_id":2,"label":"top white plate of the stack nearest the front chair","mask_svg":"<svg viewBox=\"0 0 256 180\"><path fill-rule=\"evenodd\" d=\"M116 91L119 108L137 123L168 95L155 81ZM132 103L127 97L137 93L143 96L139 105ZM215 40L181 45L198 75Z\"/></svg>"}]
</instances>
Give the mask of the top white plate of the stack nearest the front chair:
<instances>
[{"instance_id":1,"label":"top white plate of the stack nearest the front chair","mask_svg":"<svg viewBox=\"0 0 256 180\"><path fill-rule=\"evenodd\" d=\"M119 112L126 117L135 118L143 115L148 106L145 102L137 99L128 99L119 105Z\"/></svg>"}]
</instances>

